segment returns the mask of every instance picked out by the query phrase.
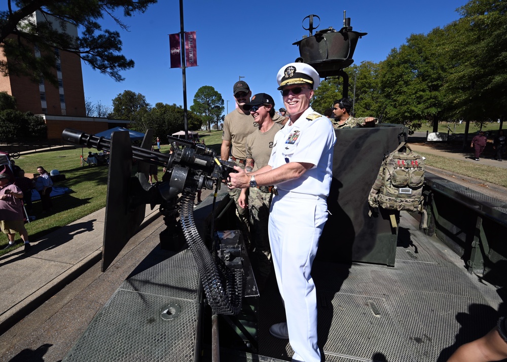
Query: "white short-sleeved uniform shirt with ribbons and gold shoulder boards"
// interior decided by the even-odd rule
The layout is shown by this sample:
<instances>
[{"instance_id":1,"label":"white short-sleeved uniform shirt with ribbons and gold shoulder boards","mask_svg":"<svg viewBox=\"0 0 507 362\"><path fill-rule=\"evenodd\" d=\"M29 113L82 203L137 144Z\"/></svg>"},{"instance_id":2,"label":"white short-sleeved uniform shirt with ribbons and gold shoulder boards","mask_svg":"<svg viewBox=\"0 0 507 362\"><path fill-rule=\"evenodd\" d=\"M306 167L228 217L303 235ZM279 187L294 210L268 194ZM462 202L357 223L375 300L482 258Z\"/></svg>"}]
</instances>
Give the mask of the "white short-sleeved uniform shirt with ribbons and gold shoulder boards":
<instances>
[{"instance_id":1,"label":"white short-sleeved uniform shirt with ribbons and gold shoulder boards","mask_svg":"<svg viewBox=\"0 0 507 362\"><path fill-rule=\"evenodd\" d=\"M280 167L289 162L306 162L314 166L300 177L276 184L279 190L301 194L328 196L333 177L333 147L335 130L327 117L309 120L316 114L309 107L292 125L289 122L274 138L273 151L268 165Z\"/></svg>"}]
</instances>

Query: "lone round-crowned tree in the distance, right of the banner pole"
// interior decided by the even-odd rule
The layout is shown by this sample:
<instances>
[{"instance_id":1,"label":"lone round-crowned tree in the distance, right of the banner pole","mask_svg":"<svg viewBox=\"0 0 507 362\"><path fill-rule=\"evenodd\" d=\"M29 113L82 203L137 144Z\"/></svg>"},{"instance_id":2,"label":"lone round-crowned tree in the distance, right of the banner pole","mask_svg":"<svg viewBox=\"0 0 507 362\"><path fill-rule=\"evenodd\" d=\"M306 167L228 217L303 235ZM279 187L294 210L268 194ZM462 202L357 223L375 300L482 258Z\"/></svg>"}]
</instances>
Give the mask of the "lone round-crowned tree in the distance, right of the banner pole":
<instances>
[{"instance_id":1,"label":"lone round-crowned tree in the distance, right of the banner pole","mask_svg":"<svg viewBox=\"0 0 507 362\"><path fill-rule=\"evenodd\" d=\"M224 99L222 94L217 92L211 86L202 86L194 95L194 104L190 110L202 117L207 124L207 130L211 130L211 121L218 121L220 115L224 113Z\"/></svg>"}]
</instances>

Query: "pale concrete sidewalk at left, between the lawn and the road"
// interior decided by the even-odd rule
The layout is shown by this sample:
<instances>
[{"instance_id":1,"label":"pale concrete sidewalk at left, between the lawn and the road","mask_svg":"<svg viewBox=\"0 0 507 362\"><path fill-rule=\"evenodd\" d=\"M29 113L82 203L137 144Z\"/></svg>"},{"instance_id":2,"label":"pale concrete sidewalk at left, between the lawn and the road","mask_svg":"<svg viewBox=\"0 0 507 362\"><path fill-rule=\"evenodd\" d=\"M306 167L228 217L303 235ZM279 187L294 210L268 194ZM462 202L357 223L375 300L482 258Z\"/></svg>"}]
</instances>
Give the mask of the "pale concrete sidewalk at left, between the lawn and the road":
<instances>
[{"instance_id":1,"label":"pale concrete sidewalk at left, between the lawn and the road","mask_svg":"<svg viewBox=\"0 0 507 362\"><path fill-rule=\"evenodd\" d=\"M143 226L158 218L147 205ZM81 275L102 254L105 208L0 257L0 334Z\"/></svg>"}]
</instances>

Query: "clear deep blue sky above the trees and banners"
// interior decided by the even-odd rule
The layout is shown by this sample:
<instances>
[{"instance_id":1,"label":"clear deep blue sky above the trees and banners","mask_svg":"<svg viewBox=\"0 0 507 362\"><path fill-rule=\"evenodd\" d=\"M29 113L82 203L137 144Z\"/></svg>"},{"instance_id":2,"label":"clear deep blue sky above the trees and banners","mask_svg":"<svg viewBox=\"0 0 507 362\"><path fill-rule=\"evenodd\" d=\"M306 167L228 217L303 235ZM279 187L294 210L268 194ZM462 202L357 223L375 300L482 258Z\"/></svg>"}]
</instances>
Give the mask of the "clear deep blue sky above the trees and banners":
<instances>
[{"instance_id":1,"label":"clear deep blue sky above the trees and banners","mask_svg":"<svg viewBox=\"0 0 507 362\"><path fill-rule=\"evenodd\" d=\"M199 87L208 85L220 92L229 112L234 109L232 86L244 77L252 92L271 94L282 105L276 90L276 73L299 57L292 43L308 34L302 27L310 14L320 17L319 29L339 30L343 11L355 31L367 32L359 39L354 61L384 60L392 48L400 47L412 33L428 33L460 16L456 9L465 0L363 0L336 1L184 1L185 31L197 32L198 66L186 70L188 107ZM180 30L179 1L160 0L144 14L125 19L130 31L120 29L104 18L103 28L118 30L123 54L135 61L124 71L124 82L100 74L83 63L85 97L92 102L112 105L124 90L146 96L147 101L183 105L180 68L170 68L168 34Z\"/></svg>"}]
</instances>

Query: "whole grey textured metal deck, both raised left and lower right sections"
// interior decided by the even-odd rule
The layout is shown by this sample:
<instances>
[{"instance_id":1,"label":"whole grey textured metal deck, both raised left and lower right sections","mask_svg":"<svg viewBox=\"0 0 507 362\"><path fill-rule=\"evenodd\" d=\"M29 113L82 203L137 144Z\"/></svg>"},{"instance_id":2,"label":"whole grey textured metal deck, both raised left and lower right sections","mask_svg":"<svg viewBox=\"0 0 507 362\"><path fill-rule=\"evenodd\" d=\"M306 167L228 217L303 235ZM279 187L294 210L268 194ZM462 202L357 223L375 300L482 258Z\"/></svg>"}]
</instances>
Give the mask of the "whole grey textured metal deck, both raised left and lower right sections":
<instances>
[{"instance_id":1,"label":"whole grey textured metal deck, both raised left and lower right sections","mask_svg":"<svg viewBox=\"0 0 507 362\"><path fill-rule=\"evenodd\" d=\"M490 330L504 307L494 286L468 274L453 251L420 232L405 212L394 267L317 259L312 275L319 346L328 362L444 362L459 345ZM199 283L189 250L174 254L156 248L64 361L210 360L207 346L201 356L196 345L202 322ZM223 351L223 360L291 359L290 344L269 334L272 323L284 320L273 274L258 315L259 355Z\"/></svg>"}]
</instances>

